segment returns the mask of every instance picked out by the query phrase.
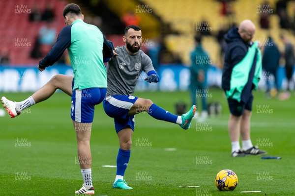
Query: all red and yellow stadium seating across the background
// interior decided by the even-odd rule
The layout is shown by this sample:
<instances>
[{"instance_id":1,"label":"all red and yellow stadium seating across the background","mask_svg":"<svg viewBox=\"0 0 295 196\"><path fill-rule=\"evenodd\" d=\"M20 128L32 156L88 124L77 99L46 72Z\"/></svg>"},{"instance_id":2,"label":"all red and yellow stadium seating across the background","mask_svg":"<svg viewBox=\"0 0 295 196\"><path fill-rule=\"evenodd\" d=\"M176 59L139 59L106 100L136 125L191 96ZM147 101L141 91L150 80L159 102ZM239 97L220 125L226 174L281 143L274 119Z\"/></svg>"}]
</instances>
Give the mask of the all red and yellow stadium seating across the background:
<instances>
[{"instance_id":1,"label":"all red and yellow stadium seating across the background","mask_svg":"<svg viewBox=\"0 0 295 196\"><path fill-rule=\"evenodd\" d=\"M293 43L295 43L295 40L292 30L285 30L279 26L279 17L275 14L276 1L268 1L270 8L273 9L273 13L269 16L269 30L260 28L260 14L256 12L257 6L261 5L264 0L232 1L233 10L236 13L233 18L237 24L244 19L252 20L257 27L254 40L264 42L268 34L271 34L280 50L283 50L284 46L280 40L281 33L289 35ZM44 21L29 22L29 14L18 13L18 6L24 5L27 6L26 9L30 9L33 5L38 5L43 10L47 2L47 0L0 1L0 11L2 13L0 43L2 48L9 50L11 65L33 66L38 62L38 59L29 58L32 47L18 47L16 40L24 39L25 41L23 42L34 45L39 28L46 23ZM206 20L211 31L211 36L204 37L204 48L209 52L214 65L222 66L223 64L220 59L220 46L215 35L222 25L229 25L229 19L221 15L221 3L217 0L74 0L73 2L81 6L84 15L91 17L98 14L92 7L97 6L99 3L104 3L118 18L121 18L130 10L134 11L136 15L141 17L141 21L144 21L140 23L143 29L143 37L145 39L152 39L154 37L163 38L165 48L171 51L174 56L179 57L184 65L190 64L189 52L194 47L193 37L197 33L196 27L203 20ZM54 27L59 32L64 26L64 21L60 17L60 14L67 2L63 0L51 0L51 3L56 16ZM294 6L292 6L292 3L294 2L288 2L287 6L287 12L290 18L294 17ZM141 10L151 10L151 12L142 13ZM19 17L19 15L22 17ZM104 17L106 18L107 16ZM174 32L166 32L164 30L164 26L166 25L170 26ZM106 29L106 32L107 38L114 41L115 45L122 45L122 35L112 34L108 29ZM41 48L43 54L49 49L50 47L48 46Z\"/></svg>"}]
</instances>

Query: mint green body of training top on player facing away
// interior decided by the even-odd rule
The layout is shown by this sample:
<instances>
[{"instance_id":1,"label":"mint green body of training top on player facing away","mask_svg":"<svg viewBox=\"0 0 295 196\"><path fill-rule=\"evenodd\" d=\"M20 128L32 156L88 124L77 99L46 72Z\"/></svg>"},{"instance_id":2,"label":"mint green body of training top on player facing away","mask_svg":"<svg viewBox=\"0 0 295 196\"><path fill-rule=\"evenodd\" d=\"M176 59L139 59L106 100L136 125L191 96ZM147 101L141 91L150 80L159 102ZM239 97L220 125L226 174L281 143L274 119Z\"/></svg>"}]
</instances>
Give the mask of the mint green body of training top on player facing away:
<instances>
[{"instance_id":1,"label":"mint green body of training top on player facing away","mask_svg":"<svg viewBox=\"0 0 295 196\"><path fill-rule=\"evenodd\" d=\"M107 88L107 72L103 64L103 34L81 19L71 25L68 52L74 71L74 89Z\"/></svg>"}]
</instances>

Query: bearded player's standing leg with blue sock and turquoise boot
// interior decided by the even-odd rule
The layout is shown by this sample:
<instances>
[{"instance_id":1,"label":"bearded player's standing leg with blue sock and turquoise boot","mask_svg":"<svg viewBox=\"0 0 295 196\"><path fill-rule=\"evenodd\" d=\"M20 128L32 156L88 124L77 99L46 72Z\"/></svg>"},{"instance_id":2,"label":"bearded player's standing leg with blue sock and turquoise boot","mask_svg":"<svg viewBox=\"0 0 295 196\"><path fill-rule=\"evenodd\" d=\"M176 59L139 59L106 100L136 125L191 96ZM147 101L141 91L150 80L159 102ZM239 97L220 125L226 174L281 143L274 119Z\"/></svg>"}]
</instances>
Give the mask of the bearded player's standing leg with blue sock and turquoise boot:
<instances>
[{"instance_id":1,"label":"bearded player's standing leg with blue sock and turquoise boot","mask_svg":"<svg viewBox=\"0 0 295 196\"><path fill-rule=\"evenodd\" d=\"M129 163L131 145L132 145L131 137L133 134L133 130L130 128L130 126L127 126L123 128L122 130L120 130L117 134L118 134L120 148L119 148L118 156L117 156L117 173L116 173L115 182L113 184L113 188L132 189L132 187L129 187L127 185L127 183L125 182L123 178Z\"/></svg>"}]
</instances>

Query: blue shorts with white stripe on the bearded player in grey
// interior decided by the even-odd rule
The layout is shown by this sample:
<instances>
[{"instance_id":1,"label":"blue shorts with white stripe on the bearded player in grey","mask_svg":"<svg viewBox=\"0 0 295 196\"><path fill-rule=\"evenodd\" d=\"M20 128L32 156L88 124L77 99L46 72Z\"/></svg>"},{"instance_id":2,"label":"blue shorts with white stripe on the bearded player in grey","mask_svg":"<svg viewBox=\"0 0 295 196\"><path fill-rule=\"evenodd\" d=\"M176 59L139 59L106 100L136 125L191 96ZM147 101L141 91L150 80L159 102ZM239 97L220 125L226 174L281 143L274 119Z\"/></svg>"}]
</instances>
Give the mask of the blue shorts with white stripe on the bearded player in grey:
<instances>
[{"instance_id":1,"label":"blue shorts with white stripe on the bearded player in grey","mask_svg":"<svg viewBox=\"0 0 295 196\"><path fill-rule=\"evenodd\" d=\"M114 118L117 133L126 126L134 131L134 115L128 116L128 112L137 99L134 96L114 95L103 100L103 109L109 117Z\"/></svg>"}]
</instances>

